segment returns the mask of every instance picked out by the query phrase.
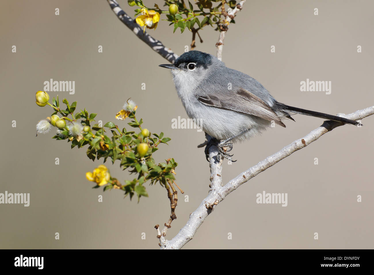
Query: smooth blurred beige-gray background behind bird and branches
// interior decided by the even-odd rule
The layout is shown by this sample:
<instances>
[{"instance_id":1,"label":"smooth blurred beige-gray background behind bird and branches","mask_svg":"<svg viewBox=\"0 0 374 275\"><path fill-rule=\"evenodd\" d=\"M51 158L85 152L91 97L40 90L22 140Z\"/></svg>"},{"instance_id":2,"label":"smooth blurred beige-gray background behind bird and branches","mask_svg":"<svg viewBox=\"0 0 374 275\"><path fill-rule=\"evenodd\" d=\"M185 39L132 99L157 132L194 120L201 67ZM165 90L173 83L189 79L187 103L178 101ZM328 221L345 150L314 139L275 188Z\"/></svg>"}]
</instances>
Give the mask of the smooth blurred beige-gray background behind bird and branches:
<instances>
[{"instance_id":1,"label":"smooth blurred beige-gray background behind bird and branches","mask_svg":"<svg viewBox=\"0 0 374 275\"><path fill-rule=\"evenodd\" d=\"M161 7L163 1L156 3ZM134 17L127 1L119 4ZM331 114L364 109L374 102L373 9L373 1L247 1L236 24L229 26L223 61L288 105ZM74 95L49 92L50 97L78 101L77 109L87 108L98 113L97 120L120 127L129 121L114 115L131 97L144 126L172 138L154 154L158 162L175 158L177 183L189 196L184 202L179 194L178 218L166 236L171 239L208 194L210 172L203 149L196 147L205 139L203 132L171 128L173 118L187 115L170 73L157 67L167 61L127 29L105 0L1 1L0 13L0 193L30 193L30 207L0 205L0 248L159 248L153 227L170 214L165 189L147 186L150 197L139 204L136 198L123 199L119 190L91 189L85 172L102 161L93 163L86 149L71 150L70 143L52 140L54 132L35 137L36 123L52 113L50 107L36 106L35 92L51 78L74 80ZM178 55L191 43L189 31L173 34L166 21L147 31ZM205 27L200 34L204 42L197 41L196 49L215 55L218 32ZM331 81L331 94L300 92L300 81L307 78ZM224 183L323 122L294 118L287 128L272 128L236 144L232 152L237 162L225 161ZM373 248L374 117L362 123L362 128L334 129L243 184L184 248ZM114 177L133 178L119 162L107 165ZM288 206L257 204L256 194L264 190L288 193Z\"/></svg>"}]
</instances>

